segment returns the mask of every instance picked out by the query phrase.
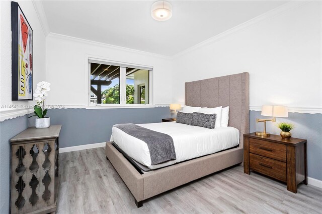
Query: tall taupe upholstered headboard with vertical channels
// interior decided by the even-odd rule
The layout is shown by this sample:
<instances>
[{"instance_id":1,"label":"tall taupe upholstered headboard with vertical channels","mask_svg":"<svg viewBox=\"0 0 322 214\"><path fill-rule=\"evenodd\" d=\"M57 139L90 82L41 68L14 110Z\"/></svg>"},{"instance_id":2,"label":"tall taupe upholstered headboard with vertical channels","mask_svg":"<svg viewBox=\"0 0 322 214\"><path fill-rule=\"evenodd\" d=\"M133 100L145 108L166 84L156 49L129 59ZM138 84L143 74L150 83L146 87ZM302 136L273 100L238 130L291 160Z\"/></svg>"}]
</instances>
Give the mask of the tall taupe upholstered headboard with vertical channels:
<instances>
[{"instance_id":1,"label":"tall taupe upholstered headboard with vertical channels","mask_svg":"<svg viewBox=\"0 0 322 214\"><path fill-rule=\"evenodd\" d=\"M240 132L239 147L244 147L250 124L250 76L248 72L198 80L185 84L185 105L214 108L229 106L229 126Z\"/></svg>"}]
</instances>

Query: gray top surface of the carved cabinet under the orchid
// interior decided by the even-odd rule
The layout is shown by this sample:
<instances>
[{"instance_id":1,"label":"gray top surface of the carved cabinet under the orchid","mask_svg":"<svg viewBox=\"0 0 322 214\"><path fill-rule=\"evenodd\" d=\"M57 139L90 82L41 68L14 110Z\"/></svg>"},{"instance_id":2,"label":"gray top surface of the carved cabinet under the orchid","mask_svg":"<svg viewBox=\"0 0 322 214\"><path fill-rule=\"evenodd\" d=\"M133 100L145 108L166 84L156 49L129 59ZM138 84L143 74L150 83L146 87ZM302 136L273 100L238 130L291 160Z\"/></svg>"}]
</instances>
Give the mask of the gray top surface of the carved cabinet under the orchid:
<instances>
[{"instance_id":1,"label":"gray top surface of the carved cabinet under the orchid","mask_svg":"<svg viewBox=\"0 0 322 214\"><path fill-rule=\"evenodd\" d=\"M37 140L58 137L61 129L61 125L51 125L48 128L36 128L30 127L25 131L20 132L15 137L11 138L11 142L18 142L24 140Z\"/></svg>"}]
</instances>

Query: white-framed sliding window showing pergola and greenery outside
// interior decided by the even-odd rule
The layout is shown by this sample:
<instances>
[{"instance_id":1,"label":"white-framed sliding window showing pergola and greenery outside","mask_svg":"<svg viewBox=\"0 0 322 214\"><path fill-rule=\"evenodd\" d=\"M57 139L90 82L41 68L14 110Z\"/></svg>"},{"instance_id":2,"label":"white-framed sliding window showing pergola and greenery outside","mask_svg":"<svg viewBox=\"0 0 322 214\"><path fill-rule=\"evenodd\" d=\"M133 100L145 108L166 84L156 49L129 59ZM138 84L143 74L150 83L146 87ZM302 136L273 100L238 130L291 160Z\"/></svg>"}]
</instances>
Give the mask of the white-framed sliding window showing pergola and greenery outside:
<instances>
[{"instance_id":1,"label":"white-framed sliding window showing pergola and greenery outside","mask_svg":"<svg viewBox=\"0 0 322 214\"><path fill-rule=\"evenodd\" d=\"M89 104L151 104L152 68L89 59Z\"/></svg>"}]
</instances>

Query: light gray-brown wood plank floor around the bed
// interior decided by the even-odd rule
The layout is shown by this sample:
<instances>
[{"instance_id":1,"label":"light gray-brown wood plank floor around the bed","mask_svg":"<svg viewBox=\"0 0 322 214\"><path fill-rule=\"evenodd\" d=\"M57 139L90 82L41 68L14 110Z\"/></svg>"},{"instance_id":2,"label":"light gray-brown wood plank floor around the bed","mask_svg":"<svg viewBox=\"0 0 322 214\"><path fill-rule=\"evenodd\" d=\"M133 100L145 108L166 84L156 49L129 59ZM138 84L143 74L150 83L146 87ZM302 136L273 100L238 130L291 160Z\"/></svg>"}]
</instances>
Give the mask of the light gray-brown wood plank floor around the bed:
<instances>
[{"instance_id":1,"label":"light gray-brown wood plank floor around the bed","mask_svg":"<svg viewBox=\"0 0 322 214\"><path fill-rule=\"evenodd\" d=\"M286 184L236 166L154 196L137 208L105 147L60 154L57 213L322 213L322 190Z\"/></svg>"}]
</instances>

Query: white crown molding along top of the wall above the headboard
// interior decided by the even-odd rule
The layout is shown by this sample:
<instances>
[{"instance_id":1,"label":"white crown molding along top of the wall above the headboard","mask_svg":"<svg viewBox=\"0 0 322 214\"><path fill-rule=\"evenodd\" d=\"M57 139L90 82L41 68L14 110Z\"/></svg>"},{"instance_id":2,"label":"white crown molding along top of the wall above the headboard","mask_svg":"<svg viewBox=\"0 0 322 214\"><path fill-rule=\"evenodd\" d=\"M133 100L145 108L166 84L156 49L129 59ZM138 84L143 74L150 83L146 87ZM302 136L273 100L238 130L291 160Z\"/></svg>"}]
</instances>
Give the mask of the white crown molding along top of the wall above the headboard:
<instances>
[{"instance_id":1,"label":"white crown molding along top of the wall above the headboard","mask_svg":"<svg viewBox=\"0 0 322 214\"><path fill-rule=\"evenodd\" d=\"M178 58L178 57L180 57L180 56L182 56L184 54L187 54L187 53L189 53L191 51L194 51L194 50L199 49L201 47L204 47L206 45L218 42L218 41L220 41L222 39L225 39L226 37L228 37L230 35L238 33L239 31L246 30L247 28L249 28L251 26L254 26L256 24L264 22L264 21L266 21L268 19L271 19L271 18L273 18L273 17L275 17L277 15L283 14L283 13L289 11L289 10L298 8L298 7L300 7L302 5L305 5L305 4L309 3L309 2L313 2L313 1L290 1L288 3L285 3L285 4L283 4L283 5L281 5L281 6L277 7L277 8L274 8L274 9L272 9L272 10L270 10L270 11L268 11L268 12L262 14L262 15L260 15L260 16L255 17L255 18L253 18L253 19L251 19L251 20L249 20L249 21L247 21L245 23L237 25L237 26L235 26L235 27L233 27L233 28L231 28L231 29L229 29L227 31L224 31L224 32L222 32L222 33L220 33L220 34L218 34L218 35L216 35L214 37L211 37L211 38L209 38L209 39L207 39L207 40L205 40L203 42L200 42L200 43L198 43L198 44L196 44L194 46L191 46L190 48L187 48L187 49L185 49L185 50L173 55L173 58Z\"/></svg>"}]
</instances>

